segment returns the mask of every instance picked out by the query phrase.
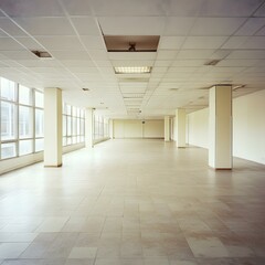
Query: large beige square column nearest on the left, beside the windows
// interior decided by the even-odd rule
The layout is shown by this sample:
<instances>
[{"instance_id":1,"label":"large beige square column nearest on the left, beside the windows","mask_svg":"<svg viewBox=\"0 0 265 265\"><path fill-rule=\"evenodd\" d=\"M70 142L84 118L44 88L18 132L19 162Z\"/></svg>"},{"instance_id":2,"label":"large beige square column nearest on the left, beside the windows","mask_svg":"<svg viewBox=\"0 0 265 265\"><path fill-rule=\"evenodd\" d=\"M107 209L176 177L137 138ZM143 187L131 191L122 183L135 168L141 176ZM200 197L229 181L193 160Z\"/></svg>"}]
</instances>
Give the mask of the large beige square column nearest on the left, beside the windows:
<instances>
[{"instance_id":1,"label":"large beige square column nearest on the left, beside the windows","mask_svg":"<svg viewBox=\"0 0 265 265\"><path fill-rule=\"evenodd\" d=\"M44 89L44 167L61 167L63 150L62 91Z\"/></svg>"}]
</instances>

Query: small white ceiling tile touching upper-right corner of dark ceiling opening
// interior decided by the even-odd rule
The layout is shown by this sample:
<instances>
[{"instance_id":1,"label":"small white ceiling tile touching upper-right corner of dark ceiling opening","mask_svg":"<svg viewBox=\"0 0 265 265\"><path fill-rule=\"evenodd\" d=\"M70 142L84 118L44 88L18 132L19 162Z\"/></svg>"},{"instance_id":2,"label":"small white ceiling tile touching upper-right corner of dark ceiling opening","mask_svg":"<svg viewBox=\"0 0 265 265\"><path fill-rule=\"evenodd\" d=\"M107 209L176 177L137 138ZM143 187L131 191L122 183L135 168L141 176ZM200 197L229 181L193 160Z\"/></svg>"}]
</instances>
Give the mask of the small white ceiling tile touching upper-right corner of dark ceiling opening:
<instances>
[{"instance_id":1,"label":"small white ceiling tile touching upper-right corner of dark ceiling opening","mask_svg":"<svg viewBox=\"0 0 265 265\"><path fill-rule=\"evenodd\" d=\"M169 17L166 20L163 35L187 35L194 21L194 18Z\"/></svg>"}]
</instances>

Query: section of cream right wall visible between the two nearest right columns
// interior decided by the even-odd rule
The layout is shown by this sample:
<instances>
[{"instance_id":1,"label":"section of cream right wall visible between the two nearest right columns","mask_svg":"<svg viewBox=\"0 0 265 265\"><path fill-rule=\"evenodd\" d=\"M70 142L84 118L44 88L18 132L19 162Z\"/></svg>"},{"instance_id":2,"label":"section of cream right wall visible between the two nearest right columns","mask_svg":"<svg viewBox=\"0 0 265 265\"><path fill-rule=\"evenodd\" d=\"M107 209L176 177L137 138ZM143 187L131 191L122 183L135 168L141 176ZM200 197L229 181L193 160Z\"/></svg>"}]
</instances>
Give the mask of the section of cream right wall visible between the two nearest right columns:
<instances>
[{"instance_id":1,"label":"section of cream right wall visible between the two nearest right columns","mask_svg":"<svg viewBox=\"0 0 265 265\"><path fill-rule=\"evenodd\" d=\"M192 146L208 148L209 108L188 115L188 142Z\"/></svg>"}]
</instances>

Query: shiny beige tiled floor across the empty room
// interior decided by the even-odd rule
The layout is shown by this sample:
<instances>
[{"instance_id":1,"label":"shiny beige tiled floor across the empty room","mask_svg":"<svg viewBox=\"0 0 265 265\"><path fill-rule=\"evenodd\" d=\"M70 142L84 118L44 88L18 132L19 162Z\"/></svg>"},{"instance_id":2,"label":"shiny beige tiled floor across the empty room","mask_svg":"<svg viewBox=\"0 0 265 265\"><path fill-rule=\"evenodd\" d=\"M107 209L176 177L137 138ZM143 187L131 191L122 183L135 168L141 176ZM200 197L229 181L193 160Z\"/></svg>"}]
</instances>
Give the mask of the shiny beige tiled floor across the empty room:
<instances>
[{"instance_id":1,"label":"shiny beige tiled floor across the empty room","mask_svg":"<svg viewBox=\"0 0 265 265\"><path fill-rule=\"evenodd\" d=\"M112 140L0 177L2 265L265 264L265 166Z\"/></svg>"}]
</instances>

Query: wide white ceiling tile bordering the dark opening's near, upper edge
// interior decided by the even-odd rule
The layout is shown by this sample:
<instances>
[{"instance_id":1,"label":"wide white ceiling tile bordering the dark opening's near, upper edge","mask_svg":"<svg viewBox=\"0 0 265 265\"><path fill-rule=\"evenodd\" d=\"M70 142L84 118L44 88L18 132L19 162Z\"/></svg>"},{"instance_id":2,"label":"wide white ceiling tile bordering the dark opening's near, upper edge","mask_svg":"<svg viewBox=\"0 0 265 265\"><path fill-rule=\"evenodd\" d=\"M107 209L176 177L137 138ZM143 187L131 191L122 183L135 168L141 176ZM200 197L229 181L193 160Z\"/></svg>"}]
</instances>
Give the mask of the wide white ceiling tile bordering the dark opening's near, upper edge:
<instances>
[{"instance_id":1,"label":"wide white ceiling tile bordering the dark opening's near, upper edge","mask_svg":"<svg viewBox=\"0 0 265 265\"><path fill-rule=\"evenodd\" d=\"M98 18L105 35L161 35L165 29L165 18L127 17Z\"/></svg>"}]
</instances>

